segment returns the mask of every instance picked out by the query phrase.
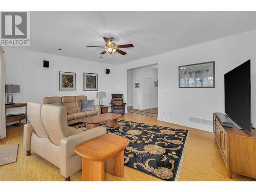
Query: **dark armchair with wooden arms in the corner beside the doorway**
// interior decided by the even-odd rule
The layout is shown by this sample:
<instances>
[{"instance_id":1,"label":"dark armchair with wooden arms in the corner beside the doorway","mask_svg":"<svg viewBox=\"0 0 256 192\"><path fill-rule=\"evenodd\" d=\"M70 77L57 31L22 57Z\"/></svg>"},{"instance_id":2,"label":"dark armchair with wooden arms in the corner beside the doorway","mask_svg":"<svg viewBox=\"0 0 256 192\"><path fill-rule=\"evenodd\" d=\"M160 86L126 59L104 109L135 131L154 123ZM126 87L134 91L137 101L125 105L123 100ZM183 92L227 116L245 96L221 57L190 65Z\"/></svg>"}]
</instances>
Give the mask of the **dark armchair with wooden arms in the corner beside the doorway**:
<instances>
[{"instance_id":1,"label":"dark armchair with wooden arms in the corner beside the doorway","mask_svg":"<svg viewBox=\"0 0 256 192\"><path fill-rule=\"evenodd\" d=\"M126 103L123 102L123 94L111 94L112 99L111 99L111 112L112 113L120 113L124 114L125 112L125 105Z\"/></svg>"}]
</instances>

